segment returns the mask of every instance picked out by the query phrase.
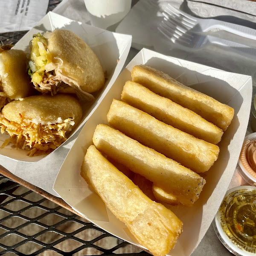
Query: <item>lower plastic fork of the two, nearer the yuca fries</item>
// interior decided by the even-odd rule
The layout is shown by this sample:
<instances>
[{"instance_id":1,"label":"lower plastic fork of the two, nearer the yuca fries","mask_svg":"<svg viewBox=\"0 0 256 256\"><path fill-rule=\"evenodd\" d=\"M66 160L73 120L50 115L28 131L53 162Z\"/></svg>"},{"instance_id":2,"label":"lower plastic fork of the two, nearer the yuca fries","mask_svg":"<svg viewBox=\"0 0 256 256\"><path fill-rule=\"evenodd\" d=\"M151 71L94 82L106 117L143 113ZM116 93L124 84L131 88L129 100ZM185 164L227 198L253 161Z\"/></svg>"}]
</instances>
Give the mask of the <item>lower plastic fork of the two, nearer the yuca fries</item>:
<instances>
[{"instance_id":1,"label":"lower plastic fork of the two, nearer the yuca fries","mask_svg":"<svg viewBox=\"0 0 256 256\"><path fill-rule=\"evenodd\" d=\"M230 51L240 55L247 55L249 58L256 57L256 49L248 47L247 45L214 36L196 34L191 31L183 33L175 26L170 26L170 23L166 20L163 20L157 29L173 43L179 44L186 49L197 50L205 47L207 44L218 44L224 47L229 47Z\"/></svg>"}]
</instances>

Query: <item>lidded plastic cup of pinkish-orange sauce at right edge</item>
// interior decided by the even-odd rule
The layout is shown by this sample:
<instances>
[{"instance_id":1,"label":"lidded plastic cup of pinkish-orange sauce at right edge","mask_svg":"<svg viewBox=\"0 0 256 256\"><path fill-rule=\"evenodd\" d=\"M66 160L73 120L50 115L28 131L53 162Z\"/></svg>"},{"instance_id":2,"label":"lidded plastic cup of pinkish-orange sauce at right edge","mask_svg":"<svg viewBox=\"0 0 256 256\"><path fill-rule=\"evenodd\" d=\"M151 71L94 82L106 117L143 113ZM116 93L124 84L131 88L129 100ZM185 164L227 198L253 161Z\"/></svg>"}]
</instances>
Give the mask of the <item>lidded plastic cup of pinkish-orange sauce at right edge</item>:
<instances>
[{"instance_id":1,"label":"lidded plastic cup of pinkish-orange sauce at right edge","mask_svg":"<svg viewBox=\"0 0 256 256\"><path fill-rule=\"evenodd\" d=\"M237 170L247 183L256 186L256 132L245 137Z\"/></svg>"}]
</instances>

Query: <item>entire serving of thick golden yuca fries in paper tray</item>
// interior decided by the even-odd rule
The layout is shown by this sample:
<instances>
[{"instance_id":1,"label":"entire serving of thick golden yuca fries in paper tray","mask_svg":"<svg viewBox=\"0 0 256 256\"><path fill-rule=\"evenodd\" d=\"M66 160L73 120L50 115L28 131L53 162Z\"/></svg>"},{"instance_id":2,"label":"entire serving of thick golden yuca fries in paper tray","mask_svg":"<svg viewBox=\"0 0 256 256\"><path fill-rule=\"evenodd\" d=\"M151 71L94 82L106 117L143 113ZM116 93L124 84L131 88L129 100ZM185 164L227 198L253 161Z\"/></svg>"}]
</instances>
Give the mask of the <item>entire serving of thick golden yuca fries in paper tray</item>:
<instances>
[{"instance_id":1,"label":"entire serving of thick golden yuca fries in paper tray","mask_svg":"<svg viewBox=\"0 0 256 256\"><path fill-rule=\"evenodd\" d=\"M140 244L164 256L180 236L182 222L161 203L192 206L199 198L205 180L198 173L217 160L214 144L234 110L154 68L138 65L131 75L122 93L126 103L113 100L107 116L112 128L97 126L81 176ZM145 93L130 93L129 87Z\"/></svg>"}]
</instances>

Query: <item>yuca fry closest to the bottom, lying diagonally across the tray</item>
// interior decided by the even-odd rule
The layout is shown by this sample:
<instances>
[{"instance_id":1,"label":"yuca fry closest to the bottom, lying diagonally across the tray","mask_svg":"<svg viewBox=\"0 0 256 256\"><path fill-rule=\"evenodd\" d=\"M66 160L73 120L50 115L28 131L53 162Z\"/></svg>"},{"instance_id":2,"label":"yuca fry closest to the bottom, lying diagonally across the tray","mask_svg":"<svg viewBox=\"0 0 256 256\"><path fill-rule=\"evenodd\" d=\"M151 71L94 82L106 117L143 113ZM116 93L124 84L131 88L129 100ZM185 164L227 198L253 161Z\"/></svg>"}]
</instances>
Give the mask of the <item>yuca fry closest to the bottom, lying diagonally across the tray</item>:
<instances>
[{"instance_id":1,"label":"yuca fry closest to the bottom, lying diagonally across the tray","mask_svg":"<svg viewBox=\"0 0 256 256\"><path fill-rule=\"evenodd\" d=\"M81 176L151 253L164 256L174 247L183 223L171 210L144 195L93 145L87 149Z\"/></svg>"}]
</instances>

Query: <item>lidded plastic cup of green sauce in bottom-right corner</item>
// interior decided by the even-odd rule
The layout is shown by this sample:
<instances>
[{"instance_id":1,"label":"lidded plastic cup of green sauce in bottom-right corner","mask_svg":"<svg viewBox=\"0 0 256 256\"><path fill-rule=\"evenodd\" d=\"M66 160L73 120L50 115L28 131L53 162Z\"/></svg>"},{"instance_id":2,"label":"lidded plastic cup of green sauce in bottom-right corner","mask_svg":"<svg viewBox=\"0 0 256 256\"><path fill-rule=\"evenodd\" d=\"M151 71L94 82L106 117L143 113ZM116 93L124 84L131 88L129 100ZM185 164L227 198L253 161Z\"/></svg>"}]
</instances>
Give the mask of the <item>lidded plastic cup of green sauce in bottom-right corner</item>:
<instances>
[{"instance_id":1,"label":"lidded plastic cup of green sauce in bottom-right corner","mask_svg":"<svg viewBox=\"0 0 256 256\"><path fill-rule=\"evenodd\" d=\"M224 246L237 256L256 253L256 187L239 186L227 191L213 221Z\"/></svg>"}]
</instances>

